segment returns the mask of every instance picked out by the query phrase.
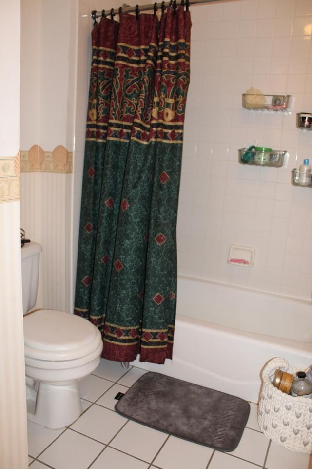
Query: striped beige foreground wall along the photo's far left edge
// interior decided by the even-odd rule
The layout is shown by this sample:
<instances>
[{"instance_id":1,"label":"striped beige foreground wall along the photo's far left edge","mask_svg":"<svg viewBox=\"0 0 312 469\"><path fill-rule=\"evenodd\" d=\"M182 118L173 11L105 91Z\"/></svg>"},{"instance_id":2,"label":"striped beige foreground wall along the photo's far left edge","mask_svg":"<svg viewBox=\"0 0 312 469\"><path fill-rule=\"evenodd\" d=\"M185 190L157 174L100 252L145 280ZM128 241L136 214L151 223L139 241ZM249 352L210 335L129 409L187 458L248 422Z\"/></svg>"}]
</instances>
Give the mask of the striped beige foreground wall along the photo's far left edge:
<instances>
[{"instance_id":1,"label":"striped beige foreground wall along the photo's far left edge","mask_svg":"<svg viewBox=\"0 0 312 469\"><path fill-rule=\"evenodd\" d=\"M20 268L20 0L0 19L0 468L26 469Z\"/></svg>"}]
</instances>

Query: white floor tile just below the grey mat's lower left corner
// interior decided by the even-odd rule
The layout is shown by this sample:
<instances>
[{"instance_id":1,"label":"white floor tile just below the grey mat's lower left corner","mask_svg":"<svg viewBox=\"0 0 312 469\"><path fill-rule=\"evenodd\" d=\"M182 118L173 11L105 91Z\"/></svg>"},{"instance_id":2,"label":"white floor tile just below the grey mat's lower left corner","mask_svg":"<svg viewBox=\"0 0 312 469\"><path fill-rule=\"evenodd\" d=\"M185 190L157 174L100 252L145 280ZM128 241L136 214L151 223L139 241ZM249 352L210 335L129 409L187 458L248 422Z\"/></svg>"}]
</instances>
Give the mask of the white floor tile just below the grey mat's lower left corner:
<instances>
[{"instance_id":1,"label":"white floor tile just below the grey mat's lower left corner","mask_svg":"<svg viewBox=\"0 0 312 469\"><path fill-rule=\"evenodd\" d=\"M151 462L168 435L145 425L129 421L110 443L110 446Z\"/></svg>"}]
</instances>

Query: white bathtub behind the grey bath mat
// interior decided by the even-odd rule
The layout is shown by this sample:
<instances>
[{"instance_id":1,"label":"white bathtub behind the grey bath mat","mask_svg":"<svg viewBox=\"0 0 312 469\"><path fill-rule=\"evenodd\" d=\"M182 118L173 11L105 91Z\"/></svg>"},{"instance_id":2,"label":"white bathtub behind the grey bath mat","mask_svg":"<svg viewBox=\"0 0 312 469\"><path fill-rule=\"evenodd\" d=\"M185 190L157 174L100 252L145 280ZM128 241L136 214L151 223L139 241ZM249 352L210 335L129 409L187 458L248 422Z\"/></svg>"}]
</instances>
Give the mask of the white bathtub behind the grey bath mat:
<instances>
[{"instance_id":1,"label":"white bathtub behind the grey bath mat","mask_svg":"<svg viewBox=\"0 0 312 469\"><path fill-rule=\"evenodd\" d=\"M311 301L179 276L173 359L131 364L257 403L273 357L312 364Z\"/></svg>"}]
</instances>

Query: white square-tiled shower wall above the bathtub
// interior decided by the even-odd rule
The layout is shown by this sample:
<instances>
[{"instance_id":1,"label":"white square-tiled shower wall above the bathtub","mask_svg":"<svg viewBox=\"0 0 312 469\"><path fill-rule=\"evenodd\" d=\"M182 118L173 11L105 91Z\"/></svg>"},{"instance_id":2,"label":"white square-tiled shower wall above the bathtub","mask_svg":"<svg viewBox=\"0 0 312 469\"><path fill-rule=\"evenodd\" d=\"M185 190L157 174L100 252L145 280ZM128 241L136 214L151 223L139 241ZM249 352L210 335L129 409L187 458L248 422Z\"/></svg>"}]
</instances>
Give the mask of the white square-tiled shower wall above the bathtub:
<instances>
[{"instance_id":1,"label":"white square-tiled shower wall above the bathtub","mask_svg":"<svg viewBox=\"0 0 312 469\"><path fill-rule=\"evenodd\" d=\"M312 160L312 3L237 0L193 5L178 214L179 273L311 299L312 192L291 170ZM292 95L292 113L251 112L241 94ZM257 143L287 150L282 168L238 163ZM256 248L249 269L227 264L230 244Z\"/></svg>"}]
</instances>

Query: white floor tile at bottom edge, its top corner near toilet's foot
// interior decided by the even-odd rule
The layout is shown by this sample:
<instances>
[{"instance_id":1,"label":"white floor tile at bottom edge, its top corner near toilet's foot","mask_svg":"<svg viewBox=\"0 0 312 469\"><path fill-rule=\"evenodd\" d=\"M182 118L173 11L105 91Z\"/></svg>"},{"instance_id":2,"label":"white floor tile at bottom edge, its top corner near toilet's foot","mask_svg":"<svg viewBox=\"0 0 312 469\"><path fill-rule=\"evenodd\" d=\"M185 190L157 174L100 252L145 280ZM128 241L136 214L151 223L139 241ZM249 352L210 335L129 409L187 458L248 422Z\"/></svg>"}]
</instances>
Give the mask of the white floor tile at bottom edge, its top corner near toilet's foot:
<instances>
[{"instance_id":1,"label":"white floor tile at bottom edge, its top corner near toilet's foot","mask_svg":"<svg viewBox=\"0 0 312 469\"><path fill-rule=\"evenodd\" d=\"M86 469L103 448L101 443L67 429L39 459L56 469Z\"/></svg>"}]
</instances>

